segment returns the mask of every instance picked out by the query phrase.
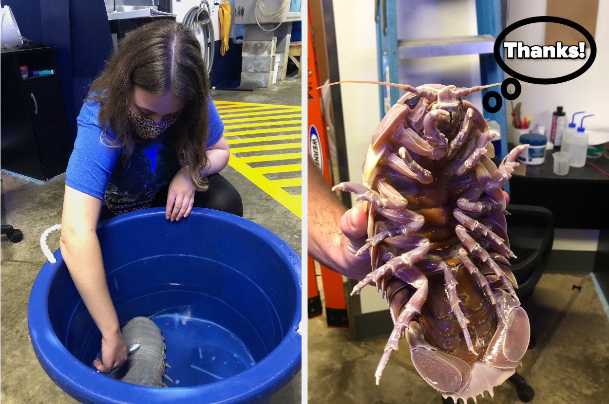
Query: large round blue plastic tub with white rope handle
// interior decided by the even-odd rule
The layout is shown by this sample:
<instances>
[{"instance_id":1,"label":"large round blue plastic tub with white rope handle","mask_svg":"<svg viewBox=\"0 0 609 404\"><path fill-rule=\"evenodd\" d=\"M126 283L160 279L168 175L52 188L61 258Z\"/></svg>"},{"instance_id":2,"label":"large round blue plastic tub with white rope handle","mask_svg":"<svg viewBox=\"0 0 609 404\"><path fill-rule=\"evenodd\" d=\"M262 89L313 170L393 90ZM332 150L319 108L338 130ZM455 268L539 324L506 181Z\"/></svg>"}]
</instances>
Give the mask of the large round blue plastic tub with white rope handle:
<instances>
[{"instance_id":1,"label":"large round blue plastic tub with white rope handle","mask_svg":"<svg viewBox=\"0 0 609 404\"><path fill-rule=\"evenodd\" d=\"M131 385L92 367L101 335L60 250L35 280L27 311L38 361L83 403L268 402L298 372L301 261L252 221L164 208L100 223L108 288L121 324L149 316L167 345L169 388Z\"/></svg>"}]
</instances>

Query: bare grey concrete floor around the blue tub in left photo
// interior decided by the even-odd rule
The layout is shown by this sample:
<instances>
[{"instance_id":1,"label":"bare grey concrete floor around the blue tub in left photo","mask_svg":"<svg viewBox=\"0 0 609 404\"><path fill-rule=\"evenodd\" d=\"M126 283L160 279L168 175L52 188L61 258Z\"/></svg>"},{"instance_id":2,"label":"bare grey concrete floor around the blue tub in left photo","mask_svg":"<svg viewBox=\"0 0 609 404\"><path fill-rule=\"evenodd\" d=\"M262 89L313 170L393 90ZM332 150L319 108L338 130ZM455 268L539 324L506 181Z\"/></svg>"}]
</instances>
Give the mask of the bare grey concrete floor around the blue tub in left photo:
<instances>
[{"instance_id":1,"label":"bare grey concrete floor around the blue tub in left photo","mask_svg":"<svg viewBox=\"0 0 609 404\"><path fill-rule=\"evenodd\" d=\"M295 73L294 73L295 75ZM300 105L301 79L287 77L268 89L253 92L213 91L214 100ZM231 167L222 171L241 193L244 217L266 227L301 253L301 221ZM74 403L44 373L33 353L27 329L27 302L33 281L45 262L40 235L61 222L65 176L34 184L2 173L2 223L21 229L24 240L13 244L1 237L1 381L0 400L7 404ZM59 247L59 232L48 239ZM301 372L271 403L301 402Z\"/></svg>"}]
</instances>

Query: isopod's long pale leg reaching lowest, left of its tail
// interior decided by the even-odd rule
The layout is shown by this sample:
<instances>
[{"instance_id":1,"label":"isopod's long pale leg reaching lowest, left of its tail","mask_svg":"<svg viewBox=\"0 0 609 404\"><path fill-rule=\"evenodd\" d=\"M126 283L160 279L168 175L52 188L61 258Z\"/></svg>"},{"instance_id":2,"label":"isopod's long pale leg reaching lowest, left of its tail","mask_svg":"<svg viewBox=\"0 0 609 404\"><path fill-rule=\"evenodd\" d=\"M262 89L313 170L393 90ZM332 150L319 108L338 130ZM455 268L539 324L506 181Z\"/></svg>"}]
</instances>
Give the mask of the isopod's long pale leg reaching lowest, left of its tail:
<instances>
[{"instance_id":1,"label":"isopod's long pale leg reaching lowest, left of its tail","mask_svg":"<svg viewBox=\"0 0 609 404\"><path fill-rule=\"evenodd\" d=\"M414 287L416 291L408 300L406 305L404 305L402 312L395 321L395 325L393 326L389 340L387 341L387 344L385 344L385 352L383 353L381 361L379 361L379 364L376 367L376 385L378 385L379 381L381 380L382 371L385 369L385 366L387 366L389 357L394 350L398 350L398 341L400 341L404 330L406 330L406 327L408 324L410 324L410 320L421 312L421 307L423 307L423 304L427 299L427 293L429 290L427 277L424 276L416 266L409 265L406 266L405 270L401 270L401 268L398 269L399 270L397 271L396 275L400 277L401 280L404 280L404 282L407 282L407 284Z\"/></svg>"}]
</instances>

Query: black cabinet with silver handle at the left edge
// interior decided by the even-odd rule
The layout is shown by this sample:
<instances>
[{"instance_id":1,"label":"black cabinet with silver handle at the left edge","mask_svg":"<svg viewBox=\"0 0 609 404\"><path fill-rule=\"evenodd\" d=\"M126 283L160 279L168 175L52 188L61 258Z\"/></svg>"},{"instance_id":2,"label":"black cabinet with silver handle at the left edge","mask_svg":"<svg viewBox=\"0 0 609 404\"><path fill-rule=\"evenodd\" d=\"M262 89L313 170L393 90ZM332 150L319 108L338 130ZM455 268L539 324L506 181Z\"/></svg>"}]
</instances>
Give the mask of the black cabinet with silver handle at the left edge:
<instances>
[{"instance_id":1,"label":"black cabinet with silver handle at the left edge","mask_svg":"<svg viewBox=\"0 0 609 404\"><path fill-rule=\"evenodd\" d=\"M65 172L73 146L55 47L3 49L1 58L2 169L46 181ZM21 78L24 65L28 78ZM32 74L51 69L54 74Z\"/></svg>"}]
</instances>

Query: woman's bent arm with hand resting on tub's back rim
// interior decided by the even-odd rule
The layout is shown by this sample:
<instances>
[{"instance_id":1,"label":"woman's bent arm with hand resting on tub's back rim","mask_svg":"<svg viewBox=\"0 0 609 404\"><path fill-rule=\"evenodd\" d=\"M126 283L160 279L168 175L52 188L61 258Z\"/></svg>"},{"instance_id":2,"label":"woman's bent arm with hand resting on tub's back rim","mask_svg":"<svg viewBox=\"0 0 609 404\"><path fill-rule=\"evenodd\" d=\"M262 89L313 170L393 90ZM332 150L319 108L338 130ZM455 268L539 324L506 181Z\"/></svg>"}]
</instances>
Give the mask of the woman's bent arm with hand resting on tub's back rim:
<instances>
[{"instance_id":1,"label":"woman's bent arm with hand resting on tub's back rim","mask_svg":"<svg viewBox=\"0 0 609 404\"><path fill-rule=\"evenodd\" d=\"M206 153L208 163L201 172L202 177L219 173L227 166L230 152L228 151L228 143L224 136L209 146ZM187 217L194 205L194 193L195 188L190 179L188 166L182 167L174 176L174 179L171 180L171 184L169 184L165 217L171 221Z\"/></svg>"}]
</instances>

